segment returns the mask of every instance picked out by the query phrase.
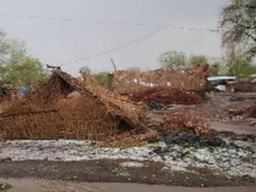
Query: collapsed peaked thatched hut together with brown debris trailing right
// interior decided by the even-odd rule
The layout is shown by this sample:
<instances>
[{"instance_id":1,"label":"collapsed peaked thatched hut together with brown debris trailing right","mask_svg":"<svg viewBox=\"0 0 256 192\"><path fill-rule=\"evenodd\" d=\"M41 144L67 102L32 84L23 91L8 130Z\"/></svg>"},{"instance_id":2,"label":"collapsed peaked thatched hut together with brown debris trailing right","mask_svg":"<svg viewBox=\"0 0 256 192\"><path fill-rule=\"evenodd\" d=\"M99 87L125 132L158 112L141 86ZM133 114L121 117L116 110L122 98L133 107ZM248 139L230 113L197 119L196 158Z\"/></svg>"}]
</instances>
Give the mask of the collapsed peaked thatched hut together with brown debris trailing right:
<instances>
[{"instance_id":1,"label":"collapsed peaked thatched hut together with brown debris trailing right","mask_svg":"<svg viewBox=\"0 0 256 192\"><path fill-rule=\"evenodd\" d=\"M7 139L87 139L134 146L174 130L215 137L201 119L170 115L157 122L141 102L101 87L91 76L82 81L60 69L36 91L5 105L1 120Z\"/></svg>"}]
</instances>

